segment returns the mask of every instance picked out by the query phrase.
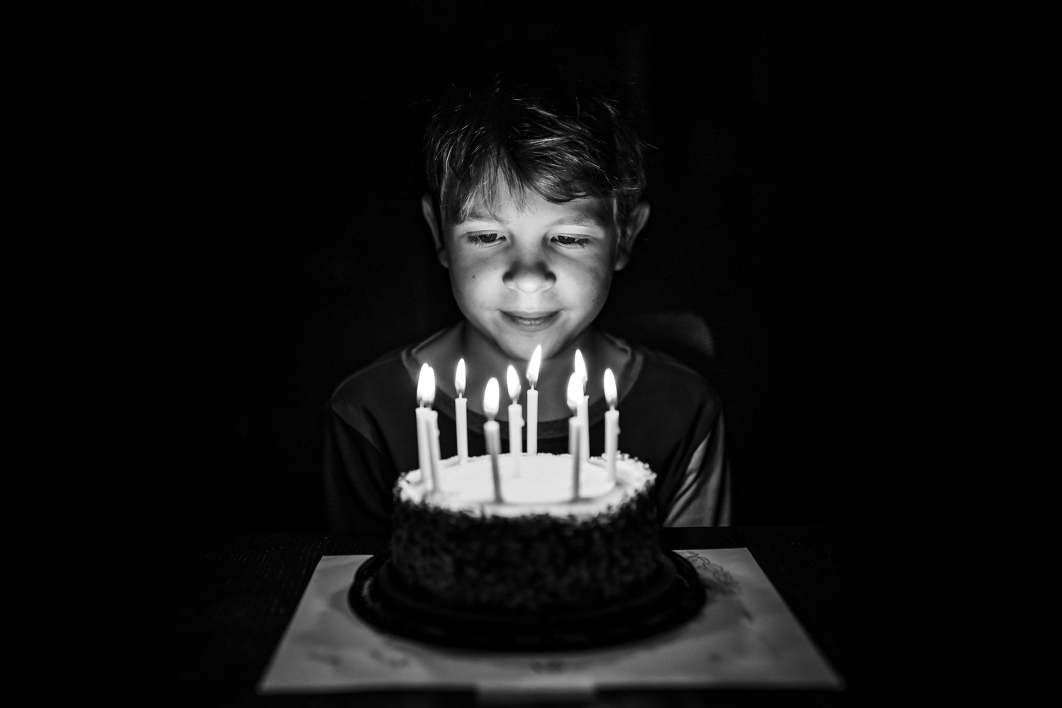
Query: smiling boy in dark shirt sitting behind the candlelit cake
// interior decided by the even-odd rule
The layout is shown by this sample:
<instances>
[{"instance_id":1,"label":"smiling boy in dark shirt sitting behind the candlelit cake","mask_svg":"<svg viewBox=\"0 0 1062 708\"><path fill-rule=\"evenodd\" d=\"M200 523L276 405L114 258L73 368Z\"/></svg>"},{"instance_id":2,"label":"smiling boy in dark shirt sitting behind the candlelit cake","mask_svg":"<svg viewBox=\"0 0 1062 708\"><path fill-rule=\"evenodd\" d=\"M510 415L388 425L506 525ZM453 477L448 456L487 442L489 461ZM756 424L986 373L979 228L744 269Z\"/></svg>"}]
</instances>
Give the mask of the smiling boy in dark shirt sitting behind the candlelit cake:
<instances>
[{"instance_id":1,"label":"smiling boy in dark shirt sitting behind the candlelit cake","mask_svg":"<svg viewBox=\"0 0 1062 708\"><path fill-rule=\"evenodd\" d=\"M521 378L542 346L538 451L567 452L568 376L588 369L590 452L601 454L602 375L622 412L620 449L657 474L664 525L730 522L720 402L697 373L594 327L613 273L649 218L638 138L614 102L571 74L498 73L457 94L426 134L431 194L424 218L464 315L425 342L347 378L329 404L325 494L329 525L384 541L397 476L418 466L413 408L422 363L436 374L440 447L456 450L453 373L465 360L468 453L484 454L483 390ZM521 382L521 392L528 388ZM508 397L498 419L504 425ZM526 393L521 401L527 410ZM507 441L502 449L508 450Z\"/></svg>"}]
</instances>

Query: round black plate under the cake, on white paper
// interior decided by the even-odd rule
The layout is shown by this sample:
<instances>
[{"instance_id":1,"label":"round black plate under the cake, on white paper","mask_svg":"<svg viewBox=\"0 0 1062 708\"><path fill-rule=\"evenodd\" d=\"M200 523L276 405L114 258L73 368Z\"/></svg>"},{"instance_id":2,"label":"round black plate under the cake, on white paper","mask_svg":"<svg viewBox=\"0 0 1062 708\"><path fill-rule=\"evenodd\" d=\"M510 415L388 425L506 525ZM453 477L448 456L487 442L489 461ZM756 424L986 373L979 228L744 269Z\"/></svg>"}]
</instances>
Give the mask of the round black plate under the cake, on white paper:
<instances>
[{"instance_id":1,"label":"round black plate under the cake, on white paper","mask_svg":"<svg viewBox=\"0 0 1062 708\"><path fill-rule=\"evenodd\" d=\"M664 562L641 591L592 610L499 615L432 605L394 572L391 552L365 560L347 592L352 609L384 632L433 644L490 651L562 651L606 646L675 627L704 606L704 586L682 556Z\"/></svg>"}]
</instances>

